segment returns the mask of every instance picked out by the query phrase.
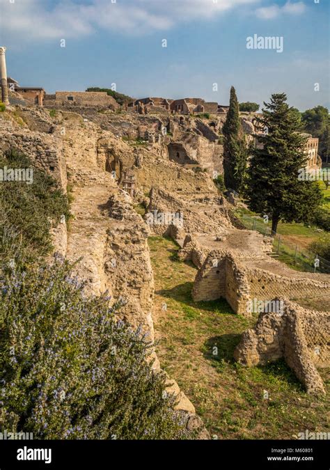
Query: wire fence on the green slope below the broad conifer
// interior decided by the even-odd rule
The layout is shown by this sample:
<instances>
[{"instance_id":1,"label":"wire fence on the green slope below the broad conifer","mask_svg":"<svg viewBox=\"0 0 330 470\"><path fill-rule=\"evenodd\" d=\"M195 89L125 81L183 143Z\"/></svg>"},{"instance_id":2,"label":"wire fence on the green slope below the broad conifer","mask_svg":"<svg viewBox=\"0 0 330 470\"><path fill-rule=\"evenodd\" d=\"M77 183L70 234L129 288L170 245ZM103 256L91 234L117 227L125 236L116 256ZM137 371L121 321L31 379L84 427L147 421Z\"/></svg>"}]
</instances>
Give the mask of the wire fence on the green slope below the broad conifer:
<instances>
[{"instance_id":1,"label":"wire fence on the green slope below the broad conifer","mask_svg":"<svg viewBox=\"0 0 330 470\"><path fill-rule=\"evenodd\" d=\"M248 230L257 230L262 235L273 237L273 251L270 256L283 261L293 269L306 272L330 274L330 260L326 260L317 253L303 249L301 246L289 242L284 235L272 233L272 227L260 217L251 217L248 214L235 213L235 216Z\"/></svg>"}]
</instances>

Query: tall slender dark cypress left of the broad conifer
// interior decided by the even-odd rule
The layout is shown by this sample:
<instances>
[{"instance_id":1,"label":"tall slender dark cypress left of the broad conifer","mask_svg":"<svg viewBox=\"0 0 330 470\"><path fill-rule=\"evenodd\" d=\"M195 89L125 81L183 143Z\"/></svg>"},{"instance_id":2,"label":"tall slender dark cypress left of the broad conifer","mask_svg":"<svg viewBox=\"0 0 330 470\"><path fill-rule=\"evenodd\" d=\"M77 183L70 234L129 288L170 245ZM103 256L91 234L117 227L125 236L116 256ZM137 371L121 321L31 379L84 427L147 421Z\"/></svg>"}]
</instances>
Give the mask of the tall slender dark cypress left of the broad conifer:
<instances>
[{"instance_id":1,"label":"tall slender dark cypress left of the broad conifer","mask_svg":"<svg viewBox=\"0 0 330 470\"><path fill-rule=\"evenodd\" d=\"M239 191L246 171L248 147L239 120L239 105L235 88L230 88L230 103L223 125L223 171L227 189Z\"/></svg>"}]
</instances>

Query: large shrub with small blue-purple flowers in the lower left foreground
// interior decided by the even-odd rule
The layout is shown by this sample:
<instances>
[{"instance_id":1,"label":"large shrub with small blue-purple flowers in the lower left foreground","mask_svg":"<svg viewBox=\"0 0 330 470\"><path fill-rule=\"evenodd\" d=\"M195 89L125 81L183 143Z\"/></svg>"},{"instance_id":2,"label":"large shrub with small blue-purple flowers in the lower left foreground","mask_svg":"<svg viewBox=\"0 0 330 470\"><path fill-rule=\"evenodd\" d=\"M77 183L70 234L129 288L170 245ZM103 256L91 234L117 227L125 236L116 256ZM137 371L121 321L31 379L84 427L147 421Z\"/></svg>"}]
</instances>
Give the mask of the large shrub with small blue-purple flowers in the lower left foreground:
<instances>
[{"instance_id":1,"label":"large shrub with small blue-purple flowers in the lower left foreground","mask_svg":"<svg viewBox=\"0 0 330 470\"><path fill-rule=\"evenodd\" d=\"M0 428L36 439L184 439L150 343L85 297L70 265L0 279Z\"/></svg>"}]
</instances>

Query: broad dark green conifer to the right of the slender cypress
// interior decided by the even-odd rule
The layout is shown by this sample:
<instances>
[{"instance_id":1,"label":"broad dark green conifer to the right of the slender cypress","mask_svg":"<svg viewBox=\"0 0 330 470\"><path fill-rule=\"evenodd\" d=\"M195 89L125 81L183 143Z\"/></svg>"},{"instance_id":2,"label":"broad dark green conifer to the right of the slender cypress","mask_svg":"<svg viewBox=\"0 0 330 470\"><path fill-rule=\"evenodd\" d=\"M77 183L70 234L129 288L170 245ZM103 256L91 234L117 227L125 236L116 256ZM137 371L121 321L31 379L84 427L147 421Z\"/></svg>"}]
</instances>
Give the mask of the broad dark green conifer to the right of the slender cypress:
<instances>
[{"instance_id":1,"label":"broad dark green conifer to the right of the slender cypress","mask_svg":"<svg viewBox=\"0 0 330 470\"><path fill-rule=\"evenodd\" d=\"M297 132L297 113L286 100L285 93L281 93L265 103L258 122L267 133L258 136L262 148L253 150L247 170L249 207L272 218L273 233L280 220L311 221L322 203L319 185L298 178L299 169L306 166L306 138Z\"/></svg>"}]
</instances>

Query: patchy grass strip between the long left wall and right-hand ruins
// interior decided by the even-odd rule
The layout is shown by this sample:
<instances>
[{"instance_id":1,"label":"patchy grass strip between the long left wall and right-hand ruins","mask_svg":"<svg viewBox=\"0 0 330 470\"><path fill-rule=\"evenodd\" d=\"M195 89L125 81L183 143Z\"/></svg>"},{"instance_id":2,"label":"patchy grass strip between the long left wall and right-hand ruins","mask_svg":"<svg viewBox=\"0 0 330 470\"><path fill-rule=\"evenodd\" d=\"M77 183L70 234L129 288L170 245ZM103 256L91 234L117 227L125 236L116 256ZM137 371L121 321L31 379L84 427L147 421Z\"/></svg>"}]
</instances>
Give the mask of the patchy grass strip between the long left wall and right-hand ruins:
<instances>
[{"instance_id":1,"label":"patchy grass strip between the long left wall and right-hand ruins","mask_svg":"<svg viewBox=\"0 0 330 470\"><path fill-rule=\"evenodd\" d=\"M196 269L178 261L172 240L151 237L149 244L157 354L208 430L219 439L289 439L306 429L327 430L329 398L306 395L283 361L260 368L233 361L240 334L256 318L235 315L223 300L194 303ZM214 346L217 356L212 354ZM329 371L322 377L329 397ZM263 399L264 390L269 400Z\"/></svg>"}]
</instances>

